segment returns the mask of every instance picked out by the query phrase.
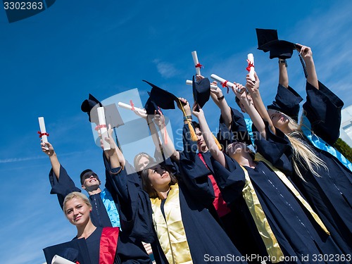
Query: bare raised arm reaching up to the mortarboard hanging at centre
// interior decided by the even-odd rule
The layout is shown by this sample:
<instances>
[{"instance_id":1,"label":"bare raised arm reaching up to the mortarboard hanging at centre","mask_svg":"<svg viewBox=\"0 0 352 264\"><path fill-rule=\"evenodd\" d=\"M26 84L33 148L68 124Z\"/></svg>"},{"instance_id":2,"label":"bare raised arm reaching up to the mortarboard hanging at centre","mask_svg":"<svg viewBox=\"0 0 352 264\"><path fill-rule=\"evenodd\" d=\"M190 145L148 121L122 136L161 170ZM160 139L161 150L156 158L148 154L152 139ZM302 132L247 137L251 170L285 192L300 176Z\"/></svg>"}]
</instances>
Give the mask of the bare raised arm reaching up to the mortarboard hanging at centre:
<instances>
[{"instance_id":1,"label":"bare raised arm reaching up to the mortarboard hanging at centre","mask_svg":"<svg viewBox=\"0 0 352 264\"><path fill-rule=\"evenodd\" d=\"M196 104L193 108L193 115L198 118L199 126L201 127L201 132L203 134L203 139L206 142L206 146L208 146L208 150L211 153L211 156L215 158L215 161L218 161L221 165L225 167L225 156L222 151L218 148L218 145L215 143L215 139L213 133L210 132L208 123L206 122L206 117L204 116L203 109L199 108L199 112L196 111Z\"/></svg>"}]
</instances>

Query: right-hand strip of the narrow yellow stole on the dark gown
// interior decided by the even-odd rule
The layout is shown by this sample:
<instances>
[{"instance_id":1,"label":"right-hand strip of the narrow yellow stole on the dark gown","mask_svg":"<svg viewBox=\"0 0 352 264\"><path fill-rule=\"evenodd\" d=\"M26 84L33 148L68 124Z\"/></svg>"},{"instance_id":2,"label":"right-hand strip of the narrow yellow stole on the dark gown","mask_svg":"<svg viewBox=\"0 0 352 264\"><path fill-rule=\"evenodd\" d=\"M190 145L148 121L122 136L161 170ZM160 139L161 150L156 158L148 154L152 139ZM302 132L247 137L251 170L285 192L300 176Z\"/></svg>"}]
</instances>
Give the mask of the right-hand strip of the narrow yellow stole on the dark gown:
<instances>
[{"instance_id":1,"label":"right-hand strip of the narrow yellow stole on the dark gown","mask_svg":"<svg viewBox=\"0 0 352 264\"><path fill-rule=\"evenodd\" d=\"M313 208L310 207L309 203L303 199L303 197L301 196L301 194L299 194L299 192L296 190L296 188L294 187L294 185L289 181L289 179L287 179L286 175L284 175L284 173L280 170L278 170L277 168L275 168L270 161L267 161L263 156L261 156L259 153L256 153L256 158L255 161L263 161L266 165L268 165L268 167L276 173L276 175L279 177L280 180L282 180L282 182L284 182L284 184L287 186L287 188L289 188L289 190L294 194L294 196L296 196L296 198L298 199L298 201L300 201L302 203L302 205L309 211L310 215L313 216L315 222L318 223L318 225L320 225L320 227L322 227L322 230L325 231L325 233L330 234L330 232L327 230L327 227L325 227L325 225L323 224L322 220L320 220L319 216L314 212Z\"/></svg>"}]
</instances>

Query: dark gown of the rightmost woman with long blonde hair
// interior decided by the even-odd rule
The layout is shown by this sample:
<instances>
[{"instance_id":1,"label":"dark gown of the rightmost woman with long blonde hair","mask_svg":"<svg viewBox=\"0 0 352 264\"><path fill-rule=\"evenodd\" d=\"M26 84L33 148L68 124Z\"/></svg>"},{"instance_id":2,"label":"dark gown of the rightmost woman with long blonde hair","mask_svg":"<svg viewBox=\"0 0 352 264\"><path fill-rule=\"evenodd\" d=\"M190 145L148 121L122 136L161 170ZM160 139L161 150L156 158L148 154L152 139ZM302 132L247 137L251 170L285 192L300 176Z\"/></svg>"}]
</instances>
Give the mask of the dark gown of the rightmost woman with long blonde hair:
<instances>
[{"instance_id":1,"label":"dark gown of the rightmost woman with long blonde hair","mask_svg":"<svg viewBox=\"0 0 352 264\"><path fill-rule=\"evenodd\" d=\"M287 93L284 87L279 87L277 94ZM303 104L306 117L310 121L312 130L319 137L329 144L334 144L339 137L339 126L341 123L342 101L333 94L324 84L319 82L319 90L306 83L307 101ZM292 115L292 109L299 109L297 96L294 93L289 96L276 96L275 100L280 104L291 106L287 108L287 115ZM285 112L284 112L285 113ZM268 140L277 142L272 134ZM283 137L283 136L282 136ZM281 138L282 138L281 137ZM282 140L282 139L279 139ZM352 245L352 172L327 151L320 150L312 146L306 137L302 138L303 143L313 149L317 155L327 165L328 171L318 168L320 177L316 177L310 171L300 166L301 174L306 182L293 174L291 180L298 189L306 196L307 201L320 216L321 220L329 230L334 241L339 245L344 253L351 253ZM265 153L265 149L270 149L270 144L265 141L256 142L258 148L262 149L262 155L269 159L271 153ZM265 144L265 146L261 146ZM285 150L279 159L284 163L273 163L281 169L281 165L291 163L292 152ZM285 165L287 167L287 165Z\"/></svg>"}]
</instances>

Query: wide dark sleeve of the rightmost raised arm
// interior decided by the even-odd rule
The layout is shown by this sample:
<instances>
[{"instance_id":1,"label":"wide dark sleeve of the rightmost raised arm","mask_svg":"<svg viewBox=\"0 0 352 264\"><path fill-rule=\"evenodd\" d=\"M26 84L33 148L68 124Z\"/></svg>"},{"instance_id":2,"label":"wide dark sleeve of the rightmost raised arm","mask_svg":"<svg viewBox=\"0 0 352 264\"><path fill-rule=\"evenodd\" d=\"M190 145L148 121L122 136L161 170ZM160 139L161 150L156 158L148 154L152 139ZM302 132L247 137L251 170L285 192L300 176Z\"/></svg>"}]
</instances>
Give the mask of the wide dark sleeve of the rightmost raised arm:
<instances>
[{"instance_id":1,"label":"wide dark sleeve of the rightmost raised arm","mask_svg":"<svg viewBox=\"0 0 352 264\"><path fill-rule=\"evenodd\" d=\"M311 130L325 142L333 145L339 138L341 108L344 102L321 82L319 82L319 89L307 82L306 92L307 100L303 104L303 109L310 122Z\"/></svg>"}]
</instances>

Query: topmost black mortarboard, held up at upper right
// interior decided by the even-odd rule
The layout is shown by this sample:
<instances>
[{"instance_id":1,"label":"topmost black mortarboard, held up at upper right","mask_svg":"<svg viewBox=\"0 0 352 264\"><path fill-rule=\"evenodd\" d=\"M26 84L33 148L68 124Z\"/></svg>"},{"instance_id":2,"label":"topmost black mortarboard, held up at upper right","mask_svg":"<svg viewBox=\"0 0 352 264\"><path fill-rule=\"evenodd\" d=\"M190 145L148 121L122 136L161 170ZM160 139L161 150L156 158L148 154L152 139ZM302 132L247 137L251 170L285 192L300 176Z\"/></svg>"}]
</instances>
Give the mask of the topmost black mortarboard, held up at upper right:
<instances>
[{"instance_id":1,"label":"topmost black mortarboard, held up at upper right","mask_svg":"<svg viewBox=\"0 0 352 264\"><path fill-rule=\"evenodd\" d=\"M277 30L263 30L256 28L258 49L268 52L270 58L291 58L296 46L292 42L280 40L277 37Z\"/></svg>"}]
</instances>

